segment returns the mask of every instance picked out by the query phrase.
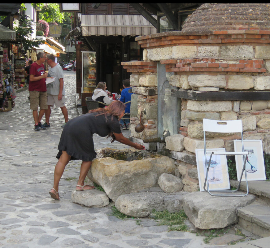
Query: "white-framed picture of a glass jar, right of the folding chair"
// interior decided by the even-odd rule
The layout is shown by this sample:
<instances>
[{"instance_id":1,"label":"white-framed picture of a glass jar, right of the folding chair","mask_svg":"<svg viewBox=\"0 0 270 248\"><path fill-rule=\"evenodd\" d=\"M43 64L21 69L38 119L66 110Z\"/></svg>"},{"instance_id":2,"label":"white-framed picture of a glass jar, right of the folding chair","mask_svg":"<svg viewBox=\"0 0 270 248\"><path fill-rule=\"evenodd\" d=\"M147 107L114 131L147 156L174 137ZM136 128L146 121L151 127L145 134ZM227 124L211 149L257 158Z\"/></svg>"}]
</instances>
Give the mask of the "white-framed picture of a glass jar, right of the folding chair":
<instances>
[{"instance_id":1,"label":"white-framed picture of a glass jar, right of the folding chair","mask_svg":"<svg viewBox=\"0 0 270 248\"><path fill-rule=\"evenodd\" d=\"M234 140L234 151L242 152L241 140ZM247 181L263 181L266 180L264 159L263 159L263 144L261 140L244 140L244 151L249 152L248 161L246 162ZM243 156L235 155L237 181L240 180L240 174L243 168ZM242 181L246 181L245 175L242 176Z\"/></svg>"}]
</instances>

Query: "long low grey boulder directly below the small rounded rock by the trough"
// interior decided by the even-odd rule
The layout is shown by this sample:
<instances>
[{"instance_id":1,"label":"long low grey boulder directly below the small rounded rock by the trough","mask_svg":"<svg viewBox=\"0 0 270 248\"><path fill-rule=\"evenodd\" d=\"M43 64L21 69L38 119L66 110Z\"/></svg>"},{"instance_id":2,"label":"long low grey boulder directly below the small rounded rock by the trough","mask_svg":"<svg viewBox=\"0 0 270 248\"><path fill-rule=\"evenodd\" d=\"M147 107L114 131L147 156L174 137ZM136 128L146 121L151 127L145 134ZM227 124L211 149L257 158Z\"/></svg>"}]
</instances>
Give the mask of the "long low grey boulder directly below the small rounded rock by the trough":
<instances>
[{"instance_id":1,"label":"long low grey boulder directly below the small rounded rock by the trough","mask_svg":"<svg viewBox=\"0 0 270 248\"><path fill-rule=\"evenodd\" d=\"M168 210L178 212L183 209L182 199L187 192L163 193L140 192L121 195L115 201L115 207L123 214L142 218L150 215L153 209L156 211Z\"/></svg>"}]
</instances>

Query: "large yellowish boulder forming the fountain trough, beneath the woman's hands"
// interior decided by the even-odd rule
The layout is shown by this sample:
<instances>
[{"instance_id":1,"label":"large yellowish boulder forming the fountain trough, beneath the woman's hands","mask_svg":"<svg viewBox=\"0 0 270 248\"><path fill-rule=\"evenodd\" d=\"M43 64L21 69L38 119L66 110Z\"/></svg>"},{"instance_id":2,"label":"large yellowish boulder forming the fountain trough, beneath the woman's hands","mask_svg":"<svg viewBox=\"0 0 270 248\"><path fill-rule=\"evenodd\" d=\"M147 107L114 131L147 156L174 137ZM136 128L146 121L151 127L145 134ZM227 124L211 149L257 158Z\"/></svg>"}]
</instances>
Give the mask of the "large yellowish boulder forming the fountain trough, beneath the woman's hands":
<instances>
[{"instance_id":1,"label":"large yellowish boulder forming the fountain trough, beneath the woman's hands","mask_svg":"<svg viewBox=\"0 0 270 248\"><path fill-rule=\"evenodd\" d=\"M173 160L165 156L131 162L101 158L93 161L87 176L116 201L120 195L158 186L161 174L173 174L174 171Z\"/></svg>"}]
</instances>

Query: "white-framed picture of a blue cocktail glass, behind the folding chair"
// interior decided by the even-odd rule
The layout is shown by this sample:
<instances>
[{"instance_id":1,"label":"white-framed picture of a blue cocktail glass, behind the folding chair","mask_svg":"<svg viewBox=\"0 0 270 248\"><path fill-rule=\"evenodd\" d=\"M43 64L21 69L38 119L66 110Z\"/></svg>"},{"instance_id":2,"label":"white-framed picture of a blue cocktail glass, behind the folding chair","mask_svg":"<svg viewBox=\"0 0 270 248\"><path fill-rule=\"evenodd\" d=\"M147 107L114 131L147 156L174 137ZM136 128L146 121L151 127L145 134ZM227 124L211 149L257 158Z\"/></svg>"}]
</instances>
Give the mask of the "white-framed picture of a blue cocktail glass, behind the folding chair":
<instances>
[{"instance_id":1,"label":"white-framed picture of a blue cocktail glass, behind the folding chair","mask_svg":"<svg viewBox=\"0 0 270 248\"><path fill-rule=\"evenodd\" d=\"M206 149L206 151L225 151L225 148ZM206 177L204 149L196 149L196 163L198 170L198 180L200 191L204 191L203 185ZM210 158L211 154L207 154L207 159ZM209 160L208 160L209 161ZM230 180L228 173L228 164L225 155L213 154L211 161L213 166L210 165L208 172L208 182L210 190L225 190L230 188Z\"/></svg>"}]
</instances>

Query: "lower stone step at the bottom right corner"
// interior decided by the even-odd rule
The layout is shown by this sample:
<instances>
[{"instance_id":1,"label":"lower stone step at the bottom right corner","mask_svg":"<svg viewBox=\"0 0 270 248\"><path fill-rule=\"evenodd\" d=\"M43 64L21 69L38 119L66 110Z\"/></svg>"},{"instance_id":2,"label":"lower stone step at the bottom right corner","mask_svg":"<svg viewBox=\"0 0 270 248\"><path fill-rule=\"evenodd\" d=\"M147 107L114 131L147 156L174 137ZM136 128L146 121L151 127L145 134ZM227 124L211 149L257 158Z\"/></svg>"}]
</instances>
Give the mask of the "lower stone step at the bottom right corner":
<instances>
[{"instance_id":1,"label":"lower stone step at the bottom right corner","mask_svg":"<svg viewBox=\"0 0 270 248\"><path fill-rule=\"evenodd\" d=\"M238 225L259 237L270 236L270 207L252 204L237 211Z\"/></svg>"}]
</instances>

